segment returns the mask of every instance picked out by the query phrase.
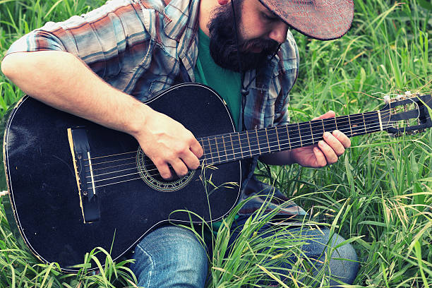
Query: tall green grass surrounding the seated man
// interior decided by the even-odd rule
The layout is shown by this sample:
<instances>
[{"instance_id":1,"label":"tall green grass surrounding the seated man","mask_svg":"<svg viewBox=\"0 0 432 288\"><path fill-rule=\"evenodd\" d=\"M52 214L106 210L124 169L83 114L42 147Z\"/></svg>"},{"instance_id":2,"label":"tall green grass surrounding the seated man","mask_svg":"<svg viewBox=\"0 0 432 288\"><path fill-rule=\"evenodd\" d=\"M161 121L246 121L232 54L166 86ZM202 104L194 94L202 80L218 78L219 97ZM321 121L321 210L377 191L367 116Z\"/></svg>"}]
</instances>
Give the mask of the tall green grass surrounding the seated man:
<instances>
[{"instance_id":1,"label":"tall green grass surrounding the seated man","mask_svg":"<svg viewBox=\"0 0 432 288\"><path fill-rule=\"evenodd\" d=\"M20 35L46 21L64 20L100 4L102 1L0 0L0 56ZM355 7L352 29L340 40L320 42L294 33L301 68L291 92L292 121L306 121L328 109L337 114L376 110L385 94L431 93L430 2L356 0ZM0 94L1 115L23 96L1 75ZM352 148L324 169L261 164L257 173L311 214L327 215L331 229L354 246L361 263L354 287L430 287L431 167L429 129L400 138L386 133L352 138ZM6 188L4 176L0 181L2 189ZM2 206L0 287L133 287L135 280L127 265L113 263L109 257L97 275L85 269L77 275L63 275L55 264L40 264L13 238ZM277 261L301 256L301 249L298 242L256 237L269 217L262 210L251 218L227 257L227 227L234 213L214 239L207 287L256 287L263 277L277 279L281 287L312 285L309 275L298 275L294 269L272 270ZM280 256L277 248L284 246L292 248ZM300 262L294 266L305 268L308 261ZM314 278L325 287L323 275Z\"/></svg>"}]
</instances>

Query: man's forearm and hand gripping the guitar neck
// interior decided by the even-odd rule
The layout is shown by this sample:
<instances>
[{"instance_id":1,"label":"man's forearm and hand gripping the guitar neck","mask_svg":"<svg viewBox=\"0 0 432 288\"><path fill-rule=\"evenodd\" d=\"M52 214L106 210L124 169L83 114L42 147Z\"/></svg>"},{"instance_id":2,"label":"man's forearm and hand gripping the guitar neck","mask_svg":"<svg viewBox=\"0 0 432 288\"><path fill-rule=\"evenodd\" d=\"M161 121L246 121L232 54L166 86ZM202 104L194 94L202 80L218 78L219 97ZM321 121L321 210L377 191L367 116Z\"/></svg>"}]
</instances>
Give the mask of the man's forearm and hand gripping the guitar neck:
<instances>
[{"instance_id":1,"label":"man's forearm and hand gripping the guitar neck","mask_svg":"<svg viewBox=\"0 0 432 288\"><path fill-rule=\"evenodd\" d=\"M335 112L329 111L312 120L335 117ZM270 165L298 163L304 167L325 167L337 162L337 159L349 148L351 140L340 131L326 132L318 145L310 145L292 150L263 155L260 160Z\"/></svg>"}]
</instances>

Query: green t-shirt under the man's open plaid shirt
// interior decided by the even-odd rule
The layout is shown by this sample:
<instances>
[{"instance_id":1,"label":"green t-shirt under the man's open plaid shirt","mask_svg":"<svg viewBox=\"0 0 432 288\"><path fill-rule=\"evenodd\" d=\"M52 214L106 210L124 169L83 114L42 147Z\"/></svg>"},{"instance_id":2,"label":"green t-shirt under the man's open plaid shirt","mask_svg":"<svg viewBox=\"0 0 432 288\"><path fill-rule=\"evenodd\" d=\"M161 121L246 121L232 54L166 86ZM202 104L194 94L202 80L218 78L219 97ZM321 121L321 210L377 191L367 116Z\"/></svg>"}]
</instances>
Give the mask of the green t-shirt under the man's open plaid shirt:
<instances>
[{"instance_id":1,"label":"green t-shirt under the man's open plaid shirt","mask_svg":"<svg viewBox=\"0 0 432 288\"><path fill-rule=\"evenodd\" d=\"M203 30L198 32L198 59L196 61L195 80L208 85L225 100L231 112L236 129L239 127L241 109L241 76L240 73L224 69L213 61L210 55L210 37Z\"/></svg>"}]
</instances>

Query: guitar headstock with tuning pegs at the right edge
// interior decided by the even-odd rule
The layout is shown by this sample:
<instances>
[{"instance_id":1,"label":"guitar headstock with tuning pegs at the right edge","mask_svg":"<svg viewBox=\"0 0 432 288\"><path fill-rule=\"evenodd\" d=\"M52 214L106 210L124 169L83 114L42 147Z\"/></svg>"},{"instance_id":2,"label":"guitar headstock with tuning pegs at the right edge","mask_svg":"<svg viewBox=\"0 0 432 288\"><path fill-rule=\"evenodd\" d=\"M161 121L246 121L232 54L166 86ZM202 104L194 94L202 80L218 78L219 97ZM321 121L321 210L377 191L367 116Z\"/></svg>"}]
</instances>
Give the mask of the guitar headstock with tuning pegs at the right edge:
<instances>
[{"instance_id":1,"label":"guitar headstock with tuning pegs at the right edge","mask_svg":"<svg viewBox=\"0 0 432 288\"><path fill-rule=\"evenodd\" d=\"M384 100L387 104L380 109L381 121L383 130L392 136L419 133L432 126L428 111L432 109L431 95L405 92L405 95L385 97Z\"/></svg>"}]
</instances>

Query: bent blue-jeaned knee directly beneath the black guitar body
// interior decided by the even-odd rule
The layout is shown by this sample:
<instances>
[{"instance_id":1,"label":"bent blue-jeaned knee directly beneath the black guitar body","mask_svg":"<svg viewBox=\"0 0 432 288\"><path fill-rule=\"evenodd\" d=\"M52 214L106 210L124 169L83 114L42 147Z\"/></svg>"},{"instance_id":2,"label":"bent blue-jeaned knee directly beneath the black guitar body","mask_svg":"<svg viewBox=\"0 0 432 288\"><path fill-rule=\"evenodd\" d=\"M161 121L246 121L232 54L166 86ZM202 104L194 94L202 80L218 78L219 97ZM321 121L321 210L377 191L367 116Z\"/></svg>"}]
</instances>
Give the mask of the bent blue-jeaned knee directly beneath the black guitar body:
<instances>
[{"instance_id":1,"label":"bent blue-jeaned knee directly beneath the black guitar body","mask_svg":"<svg viewBox=\"0 0 432 288\"><path fill-rule=\"evenodd\" d=\"M207 254L188 229L175 226L155 229L140 241L133 255L136 261L131 270L140 287L204 287Z\"/></svg>"}]
</instances>

